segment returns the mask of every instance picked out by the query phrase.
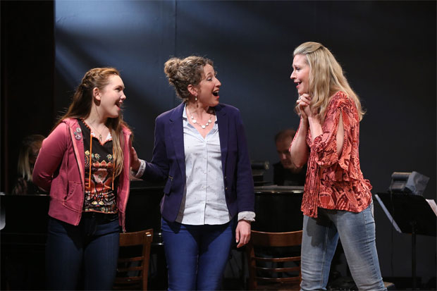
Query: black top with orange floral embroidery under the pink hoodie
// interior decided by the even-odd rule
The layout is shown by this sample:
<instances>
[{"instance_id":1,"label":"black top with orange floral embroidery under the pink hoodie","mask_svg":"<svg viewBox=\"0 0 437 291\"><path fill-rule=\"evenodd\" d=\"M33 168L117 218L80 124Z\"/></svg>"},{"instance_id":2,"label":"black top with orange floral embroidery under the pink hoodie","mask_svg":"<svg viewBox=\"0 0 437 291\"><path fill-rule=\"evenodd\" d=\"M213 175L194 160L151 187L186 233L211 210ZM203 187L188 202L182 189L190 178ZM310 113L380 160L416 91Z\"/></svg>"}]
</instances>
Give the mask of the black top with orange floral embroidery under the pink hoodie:
<instances>
[{"instance_id":1,"label":"black top with orange floral embroidery under the pink hoodie","mask_svg":"<svg viewBox=\"0 0 437 291\"><path fill-rule=\"evenodd\" d=\"M83 211L117 213L113 178L113 142L111 135L101 143L90 127L79 120L85 150L85 202ZM90 149L90 138L92 145ZM90 174L91 171L91 174Z\"/></svg>"}]
</instances>

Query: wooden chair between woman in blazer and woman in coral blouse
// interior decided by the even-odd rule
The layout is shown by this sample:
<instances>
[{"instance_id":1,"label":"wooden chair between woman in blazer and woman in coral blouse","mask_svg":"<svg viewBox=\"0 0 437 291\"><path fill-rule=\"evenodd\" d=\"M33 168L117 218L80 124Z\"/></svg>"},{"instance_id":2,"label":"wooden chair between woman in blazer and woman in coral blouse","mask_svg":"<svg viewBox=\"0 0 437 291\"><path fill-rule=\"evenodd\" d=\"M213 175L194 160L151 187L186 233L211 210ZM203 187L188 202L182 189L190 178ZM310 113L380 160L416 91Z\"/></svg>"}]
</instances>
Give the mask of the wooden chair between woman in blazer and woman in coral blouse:
<instances>
[{"instance_id":1,"label":"wooden chair between woman in blazer and woman in coral blouse","mask_svg":"<svg viewBox=\"0 0 437 291\"><path fill-rule=\"evenodd\" d=\"M301 281L300 251L298 251L299 256L288 257L264 257L255 253L257 247L263 247L265 250L278 247L295 247L301 244L302 230L290 233L264 233L252 230L250 242L246 246L247 262L249 264L249 290L299 290ZM278 252L274 252L273 249L274 253ZM290 261L294 261L297 266L283 266L285 262ZM264 266L259 266L259 263L264 264ZM259 273L262 273L262 275L259 275Z\"/></svg>"}]
</instances>

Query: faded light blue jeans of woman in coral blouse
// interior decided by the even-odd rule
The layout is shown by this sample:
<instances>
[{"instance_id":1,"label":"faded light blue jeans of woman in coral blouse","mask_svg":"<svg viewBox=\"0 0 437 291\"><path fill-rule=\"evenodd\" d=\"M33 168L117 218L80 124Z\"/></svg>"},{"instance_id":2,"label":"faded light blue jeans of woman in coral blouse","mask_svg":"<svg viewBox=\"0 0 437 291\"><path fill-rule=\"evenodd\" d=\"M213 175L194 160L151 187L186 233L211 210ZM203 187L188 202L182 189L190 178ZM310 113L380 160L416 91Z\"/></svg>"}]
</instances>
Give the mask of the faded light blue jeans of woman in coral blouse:
<instances>
[{"instance_id":1,"label":"faded light blue jeans of woman in coral blouse","mask_svg":"<svg viewBox=\"0 0 437 291\"><path fill-rule=\"evenodd\" d=\"M375 244L373 203L359 213L319 208L304 216L301 290L326 290L338 237L359 290L386 290Z\"/></svg>"}]
</instances>

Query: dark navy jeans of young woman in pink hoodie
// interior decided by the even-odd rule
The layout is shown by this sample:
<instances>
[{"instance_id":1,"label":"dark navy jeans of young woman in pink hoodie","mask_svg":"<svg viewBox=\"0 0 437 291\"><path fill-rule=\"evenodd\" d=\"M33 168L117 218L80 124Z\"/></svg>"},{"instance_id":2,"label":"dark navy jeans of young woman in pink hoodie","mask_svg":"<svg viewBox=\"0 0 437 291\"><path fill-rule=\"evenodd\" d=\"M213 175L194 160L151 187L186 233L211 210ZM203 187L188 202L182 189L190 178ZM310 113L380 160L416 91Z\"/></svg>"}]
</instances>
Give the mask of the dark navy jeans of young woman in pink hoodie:
<instances>
[{"instance_id":1,"label":"dark navy jeans of young woman in pink hoodie","mask_svg":"<svg viewBox=\"0 0 437 291\"><path fill-rule=\"evenodd\" d=\"M116 276L120 227L113 214L82 213L79 225L49 218L46 276L49 290L111 290Z\"/></svg>"}]
</instances>

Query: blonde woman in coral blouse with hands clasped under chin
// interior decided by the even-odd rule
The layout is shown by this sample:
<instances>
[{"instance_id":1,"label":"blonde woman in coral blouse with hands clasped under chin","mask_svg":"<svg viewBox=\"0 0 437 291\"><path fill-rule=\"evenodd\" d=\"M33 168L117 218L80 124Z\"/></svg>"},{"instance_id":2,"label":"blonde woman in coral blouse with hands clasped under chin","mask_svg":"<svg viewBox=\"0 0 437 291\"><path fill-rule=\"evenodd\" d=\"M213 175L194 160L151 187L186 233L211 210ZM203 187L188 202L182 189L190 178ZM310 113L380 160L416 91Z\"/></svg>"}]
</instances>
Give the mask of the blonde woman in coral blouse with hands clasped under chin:
<instances>
[{"instance_id":1,"label":"blonde woman in coral blouse with hands clasped under chin","mask_svg":"<svg viewBox=\"0 0 437 291\"><path fill-rule=\"evenodd\" d=\"M300 125L290 145L295 166L308 163L302 199L302 290L326 290L340 238L359 290L386 290L376 252L371 185L359 167L357 94L331 51L305 42L293 53Z\"/></svg>"}]
</instances>

